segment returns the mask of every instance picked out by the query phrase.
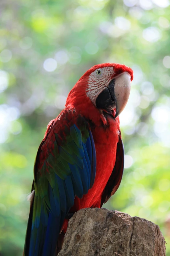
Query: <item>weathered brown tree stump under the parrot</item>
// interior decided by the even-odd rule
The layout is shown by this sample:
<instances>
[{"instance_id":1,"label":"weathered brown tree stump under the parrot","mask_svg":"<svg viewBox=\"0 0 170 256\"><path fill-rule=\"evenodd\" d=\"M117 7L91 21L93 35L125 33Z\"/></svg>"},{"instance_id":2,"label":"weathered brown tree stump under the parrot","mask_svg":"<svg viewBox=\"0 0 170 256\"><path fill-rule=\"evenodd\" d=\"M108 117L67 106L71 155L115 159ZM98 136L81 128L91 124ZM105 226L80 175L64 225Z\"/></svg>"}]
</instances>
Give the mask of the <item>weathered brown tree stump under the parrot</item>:
<instances>
[{"instance_id":1,"label":"weathered brown tree stump under the parrot","mask_svg":"<svg viewBox=\"0 0 170 256\"><path fill-rule=\"evenodd\" d=\"M158 225L105 208L81 209L70 219L58 256L165 256Z\"/></svg>"}]
</instances>

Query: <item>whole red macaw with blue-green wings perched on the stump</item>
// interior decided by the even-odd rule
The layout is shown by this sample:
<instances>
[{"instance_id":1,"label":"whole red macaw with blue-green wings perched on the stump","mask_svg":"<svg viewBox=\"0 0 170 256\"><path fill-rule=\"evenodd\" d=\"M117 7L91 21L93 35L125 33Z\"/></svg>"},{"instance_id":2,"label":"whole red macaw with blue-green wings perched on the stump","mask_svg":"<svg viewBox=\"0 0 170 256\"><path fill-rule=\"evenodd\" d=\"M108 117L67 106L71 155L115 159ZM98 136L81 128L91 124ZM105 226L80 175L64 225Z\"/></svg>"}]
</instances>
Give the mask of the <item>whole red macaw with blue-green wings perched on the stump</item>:
<instances>
[{"instance_id":1,"label":"whole red macaw with blue-green wings perched on the stump","mask_svg":"<svg viewBox=\"0 0 170 256\"><path fill-rule=\"evenodd\" d=\"M48 124L35 159L24 256L56 256L70 216L101 208L117 191L124 168L119 115L132 80L123 64L93 66Z\"/></svg>"}]
</instances>

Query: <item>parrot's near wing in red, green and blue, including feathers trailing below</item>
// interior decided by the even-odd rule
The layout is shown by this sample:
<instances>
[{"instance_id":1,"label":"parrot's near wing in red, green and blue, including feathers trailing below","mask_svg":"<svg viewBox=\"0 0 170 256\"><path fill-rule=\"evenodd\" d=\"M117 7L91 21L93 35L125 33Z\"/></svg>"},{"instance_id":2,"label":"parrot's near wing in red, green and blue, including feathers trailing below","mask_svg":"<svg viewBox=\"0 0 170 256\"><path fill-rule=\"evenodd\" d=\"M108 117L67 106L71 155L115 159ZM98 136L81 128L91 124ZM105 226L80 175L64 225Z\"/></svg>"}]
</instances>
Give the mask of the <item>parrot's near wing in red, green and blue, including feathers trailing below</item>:
<instances>
[{"instance_id":1,"label":"parrot's near wing in red, green and blue, including feathers trailing below","mask_svg":"<svg viewBox=\"0 0 170 256\"><path fill-rule=\"evenodd\" d=\"M64 218L92 187L96 172L95 146L89 123L74 109L64 109L48 125L34 168L25 256L55 255Z\"/></svg>"}]
</instances>

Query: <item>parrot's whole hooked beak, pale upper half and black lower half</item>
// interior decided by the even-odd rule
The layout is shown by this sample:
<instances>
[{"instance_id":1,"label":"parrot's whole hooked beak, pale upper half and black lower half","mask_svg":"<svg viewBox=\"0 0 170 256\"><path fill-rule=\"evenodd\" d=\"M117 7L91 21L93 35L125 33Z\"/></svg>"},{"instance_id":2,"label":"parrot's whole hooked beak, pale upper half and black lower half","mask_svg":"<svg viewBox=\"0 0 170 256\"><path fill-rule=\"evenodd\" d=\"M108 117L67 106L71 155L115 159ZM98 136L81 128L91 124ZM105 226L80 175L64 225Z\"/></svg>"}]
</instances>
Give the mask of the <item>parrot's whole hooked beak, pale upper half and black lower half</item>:
<instances>
[{"instance_id":1,"label":"parrot's whole hooked beak, pale upper half and black lower half","mask_svg":"<svg viewBox=\"0 0 170 256\"><path fill-rule=\"evenodd\" d=\"M114 77L107 87L97 96L95 104L99 109L103 109L106 113L112 115L112 110L116 108L116 115L118 115L125 108L129 99L131 90L131 76L124 72Z\"/></svg>"}]
</instances>

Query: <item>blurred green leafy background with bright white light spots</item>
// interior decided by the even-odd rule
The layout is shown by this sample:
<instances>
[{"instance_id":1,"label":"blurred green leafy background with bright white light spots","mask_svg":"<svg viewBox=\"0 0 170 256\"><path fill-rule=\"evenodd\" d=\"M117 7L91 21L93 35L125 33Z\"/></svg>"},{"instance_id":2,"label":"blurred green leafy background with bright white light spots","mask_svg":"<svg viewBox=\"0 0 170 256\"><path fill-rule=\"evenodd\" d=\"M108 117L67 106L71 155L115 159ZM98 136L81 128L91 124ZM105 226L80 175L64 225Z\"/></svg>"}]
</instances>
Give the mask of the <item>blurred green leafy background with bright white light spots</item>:
<instances>
[{"instance_id":1,"label":"blurred green leafy background with bright white light spots","mask_svg":"<svg viewBox=\"0 0 170 256\"><path fill-rule=\"evenodd\" d=\"M0 255L22 255L47 124L91 66L134 70L120 115L125 169L104 206L158 224L170 256L170 3L0 0Z\"/></svg>"}]
</instances>

